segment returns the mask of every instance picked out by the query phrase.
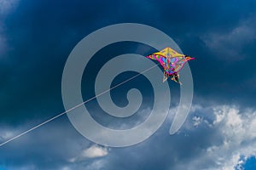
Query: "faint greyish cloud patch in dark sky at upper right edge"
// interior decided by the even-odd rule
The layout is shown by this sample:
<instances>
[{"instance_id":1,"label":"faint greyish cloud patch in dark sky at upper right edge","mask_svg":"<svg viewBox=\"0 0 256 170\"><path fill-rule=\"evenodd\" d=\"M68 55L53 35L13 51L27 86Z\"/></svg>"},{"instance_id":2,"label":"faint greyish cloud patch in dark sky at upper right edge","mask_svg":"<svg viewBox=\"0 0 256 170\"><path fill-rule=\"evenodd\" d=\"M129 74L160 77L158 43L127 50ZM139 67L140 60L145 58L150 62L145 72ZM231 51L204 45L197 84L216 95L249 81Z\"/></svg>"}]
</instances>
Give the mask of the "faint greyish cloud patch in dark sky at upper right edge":
<instances>
[{"instance_id":1,"label":"faint greyish cloud patch in dark sky at upper right edge","mask_svg":"<svg viewBox=\"0 0 256 170\"><path fill-rule=\"evenodd\" d=\"M254 41L256 18L242 20L238 26L230 31L210 31L201 36L207 48L215 54L217 59L241 60L247 58L245 47Z\"/></svg>"}]
</instances>

